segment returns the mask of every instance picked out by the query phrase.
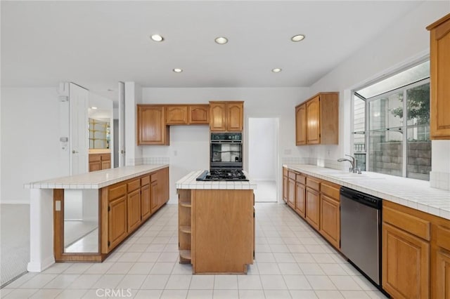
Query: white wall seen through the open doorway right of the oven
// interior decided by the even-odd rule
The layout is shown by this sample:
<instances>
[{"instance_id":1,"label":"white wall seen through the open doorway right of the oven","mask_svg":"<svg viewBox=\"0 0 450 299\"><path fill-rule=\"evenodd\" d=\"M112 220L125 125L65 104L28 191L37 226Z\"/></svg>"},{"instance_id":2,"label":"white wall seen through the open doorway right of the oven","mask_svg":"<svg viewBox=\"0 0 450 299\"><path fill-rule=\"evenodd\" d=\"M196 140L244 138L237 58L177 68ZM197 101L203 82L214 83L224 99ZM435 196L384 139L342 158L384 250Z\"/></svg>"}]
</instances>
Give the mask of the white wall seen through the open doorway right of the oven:
<instances>
[{"instance_id":1,"label":"white wall seen through the open doorway right of the oven","mask_svg":"<svg viewBox=\"0 0 450 299\"><path fill-rule=\"evenodd\" d=\"M248 174L254 180L276 180L276 131L274 118L248 121Z\"/></svg>"}]
</instances>

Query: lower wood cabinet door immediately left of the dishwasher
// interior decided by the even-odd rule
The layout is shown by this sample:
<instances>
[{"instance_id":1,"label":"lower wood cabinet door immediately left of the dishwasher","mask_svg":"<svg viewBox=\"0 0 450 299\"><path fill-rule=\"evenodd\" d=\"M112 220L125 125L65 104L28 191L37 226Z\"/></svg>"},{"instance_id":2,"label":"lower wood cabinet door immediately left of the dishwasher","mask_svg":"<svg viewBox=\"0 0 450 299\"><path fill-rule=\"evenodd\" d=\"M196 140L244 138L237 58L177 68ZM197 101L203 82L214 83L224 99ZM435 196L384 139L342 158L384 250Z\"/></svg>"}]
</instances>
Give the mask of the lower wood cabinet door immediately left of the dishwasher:
<instances>
[{"instance_id":1,"label":"lower wood cabinet door immediately left of the dishwasher","mask_svg":"<svg viewBox=\"0 0 450 299\"><path fill-rule=\"evenodd\" d=\"M321 194L321 234L336 248L340 248L340 204Z\"/></svg>"}]
</instances>

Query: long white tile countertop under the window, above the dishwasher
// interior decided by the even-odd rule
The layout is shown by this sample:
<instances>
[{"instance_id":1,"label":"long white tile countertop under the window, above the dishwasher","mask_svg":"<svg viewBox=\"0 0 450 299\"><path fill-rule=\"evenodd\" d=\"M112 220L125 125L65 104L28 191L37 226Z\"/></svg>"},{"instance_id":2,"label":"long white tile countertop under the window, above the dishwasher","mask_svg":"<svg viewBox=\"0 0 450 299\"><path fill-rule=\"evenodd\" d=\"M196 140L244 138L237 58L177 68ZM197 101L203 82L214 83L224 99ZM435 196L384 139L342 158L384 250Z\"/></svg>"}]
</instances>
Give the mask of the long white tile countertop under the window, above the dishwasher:
<instances>
[{"instance_id":1,"label":"long white tile countertop under the window, above the dishwasher","mask_svg":"<svg viewBox=\"0 0 450 299\"><path fill-rule=\"evenodd\" d=\"M356 174L304 164L285 164L283 166L450 220L450 191L432 188L430 182L426 180L401 178L369 171Z\"/></svg>"}]
</instances>

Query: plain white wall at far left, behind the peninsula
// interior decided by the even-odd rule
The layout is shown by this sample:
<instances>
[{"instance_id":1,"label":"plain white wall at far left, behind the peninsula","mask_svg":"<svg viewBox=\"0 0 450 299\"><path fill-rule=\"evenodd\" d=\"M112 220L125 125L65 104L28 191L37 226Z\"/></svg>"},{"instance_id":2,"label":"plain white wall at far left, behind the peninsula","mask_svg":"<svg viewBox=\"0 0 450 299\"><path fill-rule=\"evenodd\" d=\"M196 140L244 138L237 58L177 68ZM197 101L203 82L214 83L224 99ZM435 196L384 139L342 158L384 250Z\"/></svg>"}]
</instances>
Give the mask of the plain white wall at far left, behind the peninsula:
<instances>
[{"instance_id":1,"label":"plain white wall at far left, behind the peninsula","mask_svg":"<svg viewBox=\"0 0 450 299\"><path fill-rule=\"evenodd\" d=\"M1 88L1 203L30 201L23 184L69 175L69 153L60 147L68 111L57 88ZM65 135L65 137L68 136Z\"/></svg>"}]
</instances>

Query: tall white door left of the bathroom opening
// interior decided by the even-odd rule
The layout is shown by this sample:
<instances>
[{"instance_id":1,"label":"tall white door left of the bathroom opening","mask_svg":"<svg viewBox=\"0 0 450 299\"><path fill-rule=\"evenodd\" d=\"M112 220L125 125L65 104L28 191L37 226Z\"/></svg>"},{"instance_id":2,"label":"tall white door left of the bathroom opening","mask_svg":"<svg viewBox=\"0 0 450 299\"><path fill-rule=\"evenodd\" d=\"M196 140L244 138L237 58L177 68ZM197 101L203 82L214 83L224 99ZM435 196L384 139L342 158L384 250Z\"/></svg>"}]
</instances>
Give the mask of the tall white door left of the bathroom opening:
<instances>
[{"instance_id":1,"label":"tall white door left of the bathroom opening","mask_svg":"<svg viewBox=\"0 0 450 299\"><path fill-rule=\"evenodd\" d=\"M89 169L89 131L87 104L89 91L70 83L70 174L87 173Z\"/></svg>"}]
</instances>

